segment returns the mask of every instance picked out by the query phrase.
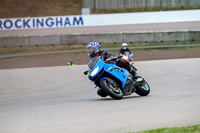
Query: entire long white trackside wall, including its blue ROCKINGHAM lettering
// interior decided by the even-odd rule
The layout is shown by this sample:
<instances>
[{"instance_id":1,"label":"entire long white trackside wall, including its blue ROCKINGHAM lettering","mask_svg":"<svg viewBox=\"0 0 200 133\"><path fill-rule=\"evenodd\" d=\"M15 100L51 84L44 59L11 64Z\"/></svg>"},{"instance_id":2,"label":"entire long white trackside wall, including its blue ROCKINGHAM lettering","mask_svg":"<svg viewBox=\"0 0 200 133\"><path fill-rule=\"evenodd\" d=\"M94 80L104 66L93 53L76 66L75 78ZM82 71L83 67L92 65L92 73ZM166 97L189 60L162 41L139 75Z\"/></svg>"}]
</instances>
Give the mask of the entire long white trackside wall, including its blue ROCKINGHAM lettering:
<instances>
[{"instance_id":1,"label":"entire long white trackside wall, including its blue ROCKINGHAM lettering","mask_svg":"<svg viewBox=\"0 0 200 133\"><path fill-rule=\"evenodd\" d=\"M0 30L200 21L200 10L0 19Z\"/></svg>"}]
</instances>

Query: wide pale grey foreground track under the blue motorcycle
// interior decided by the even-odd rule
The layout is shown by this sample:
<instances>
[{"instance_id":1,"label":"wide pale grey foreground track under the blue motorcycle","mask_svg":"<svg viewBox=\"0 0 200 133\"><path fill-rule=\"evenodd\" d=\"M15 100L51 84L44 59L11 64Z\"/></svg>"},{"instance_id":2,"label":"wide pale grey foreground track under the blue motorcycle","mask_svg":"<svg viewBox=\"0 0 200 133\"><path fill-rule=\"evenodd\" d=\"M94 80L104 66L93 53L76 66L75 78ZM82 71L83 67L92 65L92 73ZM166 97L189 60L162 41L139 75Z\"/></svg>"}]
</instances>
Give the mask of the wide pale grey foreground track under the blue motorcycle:
<instances>
[{"instance_id":1,"label":"wide pale grey foreground track under the blue motorcycle","mask_svg":"<svg viewBox=\"0 0 200 133\"><path fill-rule=\"evenodd\" d=\"M1 133L125 133L200 124L200 58L135 62L146 97L96 95L87 65L0 70Z\"/></svg>"}]
</instances>

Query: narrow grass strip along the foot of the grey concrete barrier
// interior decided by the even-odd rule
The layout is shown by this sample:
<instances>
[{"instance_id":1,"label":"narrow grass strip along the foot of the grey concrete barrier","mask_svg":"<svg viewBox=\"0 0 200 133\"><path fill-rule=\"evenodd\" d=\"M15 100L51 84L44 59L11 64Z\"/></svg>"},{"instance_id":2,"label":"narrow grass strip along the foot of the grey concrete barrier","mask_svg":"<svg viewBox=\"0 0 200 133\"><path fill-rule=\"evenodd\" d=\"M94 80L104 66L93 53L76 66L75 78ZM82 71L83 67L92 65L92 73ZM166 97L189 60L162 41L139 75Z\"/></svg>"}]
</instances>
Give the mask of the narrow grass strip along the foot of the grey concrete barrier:
<instances>
[{"instance_id":1,"label":"narrow grass strip along the foot of the grey concrete barrier","mask_svg":"<svg viewBox=\"0 0 200 133\"><path fill-rule=\"evenodd\" d=\"M200 41L195 42L159 42L159 43L128 43L128 47L136 46L159 46L159 45L180 45L180 44L200 44ZM59 46L38 46L38 47L6 47L0 48L0 55L21 54L21 53L36 53L49 51L64 51L86 49L87 45L59 45ZM101 49L104 48L121 48L119 44L101 44Z\"/></svg>"}]
</instances>

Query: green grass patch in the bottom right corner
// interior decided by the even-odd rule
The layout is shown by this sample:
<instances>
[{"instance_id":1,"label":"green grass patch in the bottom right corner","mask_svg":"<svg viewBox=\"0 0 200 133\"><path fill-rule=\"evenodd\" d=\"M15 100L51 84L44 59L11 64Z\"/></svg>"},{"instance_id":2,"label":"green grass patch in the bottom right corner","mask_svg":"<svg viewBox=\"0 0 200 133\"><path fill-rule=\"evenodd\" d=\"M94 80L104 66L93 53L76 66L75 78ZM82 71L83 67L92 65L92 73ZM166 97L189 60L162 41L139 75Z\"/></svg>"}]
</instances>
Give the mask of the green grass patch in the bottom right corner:
<instances>
[{"instance_id":1,"label":"green grass patch in the bottom right corner","mask_svg":"<svg viewBox=\"0 0 200 133\"><path fill-rule=\"evenodd\" d=\"M132 133L200 133L200 124L187 127L159 128L154 130Z\"/></svg>"}]
</instances>

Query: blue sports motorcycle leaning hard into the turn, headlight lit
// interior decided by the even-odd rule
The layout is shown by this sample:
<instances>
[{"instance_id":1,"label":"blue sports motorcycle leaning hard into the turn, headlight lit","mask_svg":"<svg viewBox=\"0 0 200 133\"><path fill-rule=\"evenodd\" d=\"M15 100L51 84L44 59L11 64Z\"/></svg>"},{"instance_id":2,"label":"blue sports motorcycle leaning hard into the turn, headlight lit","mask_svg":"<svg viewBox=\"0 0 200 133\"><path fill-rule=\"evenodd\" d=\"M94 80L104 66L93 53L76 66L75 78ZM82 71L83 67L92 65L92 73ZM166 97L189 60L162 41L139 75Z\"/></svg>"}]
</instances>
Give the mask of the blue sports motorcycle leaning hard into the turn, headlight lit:
<instances>
[{"instance_id":1,"label":"blue sports motorcycle leaning hard into the turn, headlight lit","mask_svg":"<svg viewBox=\"0 0 200 133\"><path fill-rule=\"evenodd\" d=\"M88 78L96 87L101 88L113 99L122 99L123 96L134 92L140 96L147 96L150 93L148 83L141 76L134 79L128 70L118 67L115 61L120 58L122 56L103 61L102 56L93 57L88 61L89 70L84 74L88 74Z\"/></svg>"}]
</instances>

